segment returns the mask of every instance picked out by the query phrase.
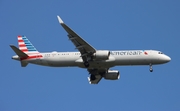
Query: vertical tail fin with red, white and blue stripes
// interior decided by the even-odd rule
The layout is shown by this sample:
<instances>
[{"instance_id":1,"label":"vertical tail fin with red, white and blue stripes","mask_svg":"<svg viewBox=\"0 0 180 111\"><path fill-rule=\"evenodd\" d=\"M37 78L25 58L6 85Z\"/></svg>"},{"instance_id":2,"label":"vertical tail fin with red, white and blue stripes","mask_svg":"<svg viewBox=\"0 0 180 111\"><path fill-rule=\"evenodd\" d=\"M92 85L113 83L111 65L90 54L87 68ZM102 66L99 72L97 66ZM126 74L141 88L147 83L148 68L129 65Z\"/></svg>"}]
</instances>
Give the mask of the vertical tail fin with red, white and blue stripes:
<instances>
[{"instance_id":1,"label":"vertical tail fin with red, white and blue stripes","mask_svg":"<svg viewBox=\"0 0 180 111\"><path fill-rule=\"evenodd\" d=\"M24 53L39 53L26 36L18 36L18 45Z\"/></svg>"}]
</instances>

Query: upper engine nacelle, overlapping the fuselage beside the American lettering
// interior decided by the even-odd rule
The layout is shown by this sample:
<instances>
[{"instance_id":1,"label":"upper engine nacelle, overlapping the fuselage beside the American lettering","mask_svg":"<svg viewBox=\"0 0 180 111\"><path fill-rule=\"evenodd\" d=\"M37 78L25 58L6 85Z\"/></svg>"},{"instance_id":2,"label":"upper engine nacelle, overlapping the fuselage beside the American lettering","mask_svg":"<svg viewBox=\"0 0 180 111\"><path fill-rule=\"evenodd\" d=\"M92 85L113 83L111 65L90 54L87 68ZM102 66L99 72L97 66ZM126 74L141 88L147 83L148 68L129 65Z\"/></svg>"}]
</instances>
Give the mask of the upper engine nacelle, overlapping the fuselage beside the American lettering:
<instances>
[{"instance_id":1,"label":"upper engine nacelle, overlapping the fuselage beside the American lettering","mask_svg":"<svg viewBox=\"0 0 180 111\"><path fill-rule=\"evenodd\" d=\"M93 55L95 60L108 60L110 56L110 51L108 50L97 50Z\"/></svg>"}]
</instances>

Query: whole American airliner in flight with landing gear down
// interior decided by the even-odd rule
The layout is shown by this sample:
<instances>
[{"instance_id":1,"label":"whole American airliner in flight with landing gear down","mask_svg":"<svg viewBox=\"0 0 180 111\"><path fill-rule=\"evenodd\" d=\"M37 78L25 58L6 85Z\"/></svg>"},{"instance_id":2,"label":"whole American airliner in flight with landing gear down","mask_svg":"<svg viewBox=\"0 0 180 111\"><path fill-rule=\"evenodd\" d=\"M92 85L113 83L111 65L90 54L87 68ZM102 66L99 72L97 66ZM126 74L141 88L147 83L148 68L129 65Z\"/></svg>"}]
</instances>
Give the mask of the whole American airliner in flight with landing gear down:
<instances>
[{"instance_id":1,"label":"whole American airliner in flight with landing gear down","mask_svg":"<svg viewBox=\"0 0 180 111\"><path fill-rule=\"evenodd\" d=\"M68 27L60 16L57 16L60 25L68 33L69 40L78 52L39 52L26 36L18 36L17 48L10 45L17 54L12 59L18 60L22 67L29 63L50 67L80 67L86 68L90 76L90 84L98 84L106 80L118 80L120 72L110 70L114 66L148 65L153 72L153 65L164 64L171 58L157 50L97 50Z\"/></svg>"}]
</instances>

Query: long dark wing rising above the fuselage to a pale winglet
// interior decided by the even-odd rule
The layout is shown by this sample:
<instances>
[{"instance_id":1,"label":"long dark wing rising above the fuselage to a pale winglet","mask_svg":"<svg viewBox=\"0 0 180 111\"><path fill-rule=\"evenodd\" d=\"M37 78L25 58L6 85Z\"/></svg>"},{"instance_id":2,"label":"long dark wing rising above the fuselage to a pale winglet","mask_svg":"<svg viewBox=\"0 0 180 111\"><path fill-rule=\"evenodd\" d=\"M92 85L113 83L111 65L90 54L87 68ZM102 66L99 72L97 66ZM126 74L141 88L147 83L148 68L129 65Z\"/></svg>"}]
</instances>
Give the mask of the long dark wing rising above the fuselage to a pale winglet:
<instances>
[{"instance_id":1,"label":"long dark wing rising above the fuselage to a pale winglet","mask_svg":"<svg viewBox=\"0 0 180 111\"><path fill-rule=\"evenodd\" d=\"M91 57L93 53L96 52L96 49L89 45L85 40L83 40L78 34L76 34L71 28L69 28L62 19L57 16L59 23L68 33L69 39L75 45L76 49L78 49L81 53L83 61L87 61L88 57Z\"/></svg>"}]
</instances>

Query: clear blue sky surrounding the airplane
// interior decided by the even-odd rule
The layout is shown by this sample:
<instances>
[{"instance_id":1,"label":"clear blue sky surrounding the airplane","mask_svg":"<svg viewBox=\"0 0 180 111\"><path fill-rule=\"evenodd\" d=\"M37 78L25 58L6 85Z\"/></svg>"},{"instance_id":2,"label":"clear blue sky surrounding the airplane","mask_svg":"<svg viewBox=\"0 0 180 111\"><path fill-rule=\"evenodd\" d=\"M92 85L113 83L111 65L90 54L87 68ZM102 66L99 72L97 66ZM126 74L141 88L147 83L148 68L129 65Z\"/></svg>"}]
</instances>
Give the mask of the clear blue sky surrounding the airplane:
<instances>
[{"instance_id":1,"label":"clear blue sky surrounding the airplane","mask_svg":"<svg viewBox=\"0 0 180 111\"><path fill-rule=\"evenodd\" d=\"M1 0L1 111L180 110L179 0ZM11 59L17 35L40 51L76 51L56 18L96 49L155 49L168 64L113 67L120 80L89 85L81 68L52 68Z\"/></svg>"}]
</instances>

